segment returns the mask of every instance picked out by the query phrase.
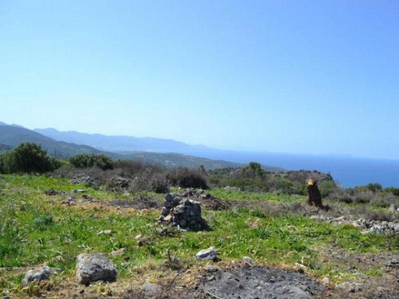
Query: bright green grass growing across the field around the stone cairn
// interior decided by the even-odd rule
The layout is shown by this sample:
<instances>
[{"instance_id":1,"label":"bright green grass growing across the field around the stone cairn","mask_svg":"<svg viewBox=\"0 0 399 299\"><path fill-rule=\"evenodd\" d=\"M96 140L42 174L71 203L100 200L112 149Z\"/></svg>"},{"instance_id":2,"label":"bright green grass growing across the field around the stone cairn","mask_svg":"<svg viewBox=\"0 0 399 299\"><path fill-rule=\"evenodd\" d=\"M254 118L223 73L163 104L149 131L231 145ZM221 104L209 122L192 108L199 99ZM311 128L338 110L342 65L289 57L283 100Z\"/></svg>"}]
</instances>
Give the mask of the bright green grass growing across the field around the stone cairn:
<instances>
[{"instance_id":1,"label":"bright green grass growing across the field around the stone cairn","mask_svg":"<svg viewBox=\"0 0 399 299\"><path fill-rule=\"evenodd\" d=\"M97 202L62 203L63 195L47 196L43 191L54 188L71 194L73 189L85 189ZM303 196L272 193L244 193L215 189L210 193L219 198L248 201L299 202ZM150 194L151 196L163 195ZM225 211L203 211L211 229L203 232L177 233L159 237L154 227L160 211L117 208L107 202L122 194L94 190L82 185L70 185L66 179L46 176L2 175L0 180L0 292L27 294L21 287L22 276L15 267L48 264L62 270L61 278L73 279L75 258L82 252L103 252L127 248L124 256L110 256L118 270L120 281L143 276L140 269L149 263L155 276L162 276L162 262L168 250L186 265L198 263L194 255L215 246L223 262L250 256L261 264L295 267L302 263L315 277L330 277L334 281L346 277L343 265L321 259L321 250L330 247L344 252L381 253L388 248L396 251L399 239L394 236L362 234L352 225L335 226L318 223L298 215L268 216L267 211L250 208ZM98 234L112 230L110 235ZM139 247L135 236L148 238ZM124 257L129 256L129 260ZM155 265L155 266L154 266ZM151 270L152 269L152 270ZM341 274L340 274L341 273ZM367 275L378 275L371 268ZM60 277L56 278L60 279ZM33 288L33 287L30 287Z\"/></svg>"}]
</instances>

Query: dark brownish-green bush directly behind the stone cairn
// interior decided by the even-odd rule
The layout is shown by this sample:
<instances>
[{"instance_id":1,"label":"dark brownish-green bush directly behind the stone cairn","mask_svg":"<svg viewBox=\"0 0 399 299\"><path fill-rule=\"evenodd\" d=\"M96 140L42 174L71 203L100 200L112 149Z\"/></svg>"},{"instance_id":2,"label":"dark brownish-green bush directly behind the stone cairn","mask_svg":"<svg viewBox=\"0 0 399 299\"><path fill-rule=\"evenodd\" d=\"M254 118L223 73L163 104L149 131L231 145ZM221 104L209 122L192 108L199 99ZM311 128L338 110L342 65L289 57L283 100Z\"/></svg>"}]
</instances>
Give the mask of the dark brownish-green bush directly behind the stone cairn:
<instances>
[{"instance_id":1,"label":"dark brownish-green bush directly behind the stone cairn","mask_svg":"<svg viewBox=\"0 0 399 299\"><path fill-rule=\"evenodd\" d=\"M208 189L205 176L200 170L180 167L170 170L166 177L173 186Z\"/></svg>"}]
</instances>

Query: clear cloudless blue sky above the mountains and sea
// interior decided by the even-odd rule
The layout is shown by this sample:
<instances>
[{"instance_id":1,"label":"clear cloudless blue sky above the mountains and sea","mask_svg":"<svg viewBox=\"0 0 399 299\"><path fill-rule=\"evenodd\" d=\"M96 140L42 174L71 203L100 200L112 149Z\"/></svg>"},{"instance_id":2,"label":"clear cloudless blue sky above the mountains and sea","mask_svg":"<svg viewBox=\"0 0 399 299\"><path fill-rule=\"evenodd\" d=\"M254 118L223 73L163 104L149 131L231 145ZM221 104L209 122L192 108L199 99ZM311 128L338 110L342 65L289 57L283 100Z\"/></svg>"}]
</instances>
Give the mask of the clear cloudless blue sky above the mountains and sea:
<instances>
[{"instance_id":1,"label":"clear cloudless blue sky above the mountains and sea","mask_svg":"<svg viewBox=\"0 0 399 299\"><path fill-rule=\"evenodd\" d=\"M0 121L399 159L399 1L1 0Z\"/></svg>"}]
</instances>

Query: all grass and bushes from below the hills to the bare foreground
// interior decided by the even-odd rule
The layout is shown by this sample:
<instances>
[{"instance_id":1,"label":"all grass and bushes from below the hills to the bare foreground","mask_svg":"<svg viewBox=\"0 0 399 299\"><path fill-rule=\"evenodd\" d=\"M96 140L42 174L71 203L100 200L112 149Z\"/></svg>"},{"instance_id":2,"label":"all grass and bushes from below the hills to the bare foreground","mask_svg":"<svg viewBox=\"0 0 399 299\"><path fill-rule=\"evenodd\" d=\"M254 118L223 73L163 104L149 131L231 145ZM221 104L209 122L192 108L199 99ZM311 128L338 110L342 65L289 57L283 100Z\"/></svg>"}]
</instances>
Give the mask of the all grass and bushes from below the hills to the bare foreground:
<instances>
[{"instance_id":1,"label":"all grass and bushes from below the hills to the bare foreground","mask_svg":"<svg viewBox=\"0 0 399 299\"><path fill-rule=\"evenodd\" d=\"M387 207L399 204L399 188L383 189L373 183L342 189L330 174L318 171L267 172L256 162L210 171L203 166L168 169L143 161L113 161L103 154L79 154L69 161L57 161L39 145L29 143L1 153L0 171L0 292L7 296L44 292L37 283L22 288L27 268L18 267L47 264L62 270L51 281L69 281L75 275L75 257L82 252L111 256L112 251L126 248L126 254L111 258L118 269L118 284L128 286L143 278L172 279L176 269L171 269L170 260L164 262L170 253L182 265L196 269L202 264L194 255L210 246L218 249L227 265L242 256L260 265L295 268L300 263L310 275L329 277L333 283L354 274L347 270L352 262L334 259L331 250L338 255L368 257L399 249L399 237L394 234L364 234L352 223L318 222L309 216L320 212L304 204L305 181L313 178L328 206L325 215L392 221L397 220L396 213ZM30 174L43 172L46 174ZM81 176L80 183L70 184L72 177ZM203 209L208 231L167 228L165 232L154 226L160 209L153 207L160 206L169 190L188 187L209 188L210 196L223 201L227 209ZM46 195L44 191L50 188L59 192ZM105 230L111 234L99 233ZM144 241L140 243L137 235ZM378 264L365 264L363 272L381 275Z\"/></svg>"}]
</instances>

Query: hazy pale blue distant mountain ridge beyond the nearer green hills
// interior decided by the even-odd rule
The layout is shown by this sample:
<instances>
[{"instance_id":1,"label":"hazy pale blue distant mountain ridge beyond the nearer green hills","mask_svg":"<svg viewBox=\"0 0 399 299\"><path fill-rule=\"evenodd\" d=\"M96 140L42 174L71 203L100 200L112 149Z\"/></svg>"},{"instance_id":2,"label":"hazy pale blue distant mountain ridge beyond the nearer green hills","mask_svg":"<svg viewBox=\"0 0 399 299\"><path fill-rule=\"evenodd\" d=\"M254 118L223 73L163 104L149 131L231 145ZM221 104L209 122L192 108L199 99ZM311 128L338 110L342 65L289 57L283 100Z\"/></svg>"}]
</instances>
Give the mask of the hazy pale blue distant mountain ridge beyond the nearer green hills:
<instances>
[{"instance_id":1,"label":"hazy pale blue distant mountain ridge beyond the nearer green hills","mask_svg":"<svg viewBox=\"0 0 399 299\"><path fill-rule=\"evenodd\" d=\"M53 128L34 129L33 131L57 141L84 144L107 151L151 151L151 152L188 152L207 149L204 146L192 146L183 142L159 138L137 138L132 136L106 136L86 134L76 131L60 132Z\"/></svg>"}]
</instances>

